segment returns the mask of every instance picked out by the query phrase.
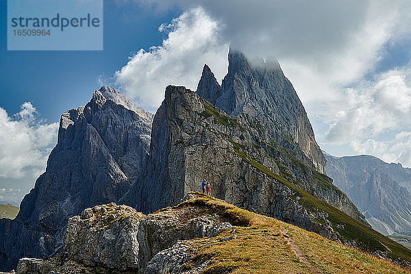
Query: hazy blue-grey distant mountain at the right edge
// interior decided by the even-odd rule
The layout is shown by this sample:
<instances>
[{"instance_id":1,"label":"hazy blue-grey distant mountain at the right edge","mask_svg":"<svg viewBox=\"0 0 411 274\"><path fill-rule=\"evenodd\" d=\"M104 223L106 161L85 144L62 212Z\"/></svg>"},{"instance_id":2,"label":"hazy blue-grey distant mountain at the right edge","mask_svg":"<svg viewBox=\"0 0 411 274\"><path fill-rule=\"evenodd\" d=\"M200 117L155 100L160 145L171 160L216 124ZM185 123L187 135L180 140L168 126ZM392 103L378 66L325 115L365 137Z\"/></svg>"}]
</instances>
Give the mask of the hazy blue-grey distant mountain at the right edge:
<instances>
[{"instance_id":1,"label":"hazy blue-grey distant mountain at the right edge","mask_svg":"<svg viewBox=\"0 0 411 274\"><path fill-rule=\"evenodd\" d=\"M384 235L411 235L410 169L369 155L326 158L327 174L374 229Z\"/></svg>"}]
</instances>

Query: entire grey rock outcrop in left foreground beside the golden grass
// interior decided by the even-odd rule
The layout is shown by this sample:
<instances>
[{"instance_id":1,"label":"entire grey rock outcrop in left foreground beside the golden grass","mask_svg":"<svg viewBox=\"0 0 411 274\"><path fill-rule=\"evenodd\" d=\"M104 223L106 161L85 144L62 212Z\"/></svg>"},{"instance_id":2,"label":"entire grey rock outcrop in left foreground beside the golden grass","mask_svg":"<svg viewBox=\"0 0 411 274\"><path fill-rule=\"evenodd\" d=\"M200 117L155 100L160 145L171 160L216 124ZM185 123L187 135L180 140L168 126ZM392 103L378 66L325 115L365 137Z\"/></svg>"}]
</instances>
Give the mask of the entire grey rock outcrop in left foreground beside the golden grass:
<instances>
[{"instance_id":1,"label":"entire grey rock outcrop in left foreground beside the golden grass","mask_svg":"<svg viewBox=\"0 0 411 274\"><path fill-rule=\"evenodd\" d=\"M217 236L231 223L199 206L166 208L145 216L115 203L87 208L69 219L66 254L19 260L19 274L49 273L199 273L184 272L194 256L182 240ZM54 272L53 272L54 271Z\"/></svg>"}]
</instances>

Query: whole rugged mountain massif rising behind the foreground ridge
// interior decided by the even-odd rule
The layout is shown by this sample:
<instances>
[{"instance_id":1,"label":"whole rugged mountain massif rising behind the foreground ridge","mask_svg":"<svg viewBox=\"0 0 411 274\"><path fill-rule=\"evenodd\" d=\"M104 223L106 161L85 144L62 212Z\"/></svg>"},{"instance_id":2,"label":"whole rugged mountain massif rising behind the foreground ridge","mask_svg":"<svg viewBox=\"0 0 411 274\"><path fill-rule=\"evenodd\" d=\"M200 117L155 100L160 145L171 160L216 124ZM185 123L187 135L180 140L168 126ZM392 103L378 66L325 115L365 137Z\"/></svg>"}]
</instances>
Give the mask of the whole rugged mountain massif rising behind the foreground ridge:
<instances>
[{"instance_id":1,"label":"whole rugged mountain massif rising behind the foreground ridge","mask_svg":"<svg viewBox=\"0 0 411 274\"><path fill-rule=\"evenodd\" d=\"M180 203L203 179L235 206L410 262L410 251L371 229L324 171L303 105L276 61L251 64L230 51L222 86L204 66L197 92L166 87L155 116L102 87L62 115L46 172L16 219L0 220L0 269L63 251L67 221L85 208L115 201L149 214Z\"/></svg>"}]
</instances>

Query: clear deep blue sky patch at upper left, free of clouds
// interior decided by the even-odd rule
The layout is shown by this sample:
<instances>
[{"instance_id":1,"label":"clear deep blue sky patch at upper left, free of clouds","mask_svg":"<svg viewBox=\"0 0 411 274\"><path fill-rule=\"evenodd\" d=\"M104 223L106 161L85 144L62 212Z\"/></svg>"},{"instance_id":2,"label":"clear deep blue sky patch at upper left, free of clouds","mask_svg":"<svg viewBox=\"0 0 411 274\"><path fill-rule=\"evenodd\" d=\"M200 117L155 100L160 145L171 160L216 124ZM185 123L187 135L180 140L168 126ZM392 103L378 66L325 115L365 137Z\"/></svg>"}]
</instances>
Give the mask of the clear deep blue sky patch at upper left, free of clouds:
<instances>
[{"instance_id":1,"label":"clear deep blue sky patch at upper left, free of clouds","mask_svg":"<svg viewBox=\"0 0 411 274\"><path fill-rule=\"evenodd\" d=\"M14 114L32 101L48 121L89 101L99 88L99 75L112 77L133 51L160 44L158 27L179 15L178 10L153 15L136 4L104 1L103 51L7 51L6 3L0 1L0 105Z\"/></svg>"}]
</instances>

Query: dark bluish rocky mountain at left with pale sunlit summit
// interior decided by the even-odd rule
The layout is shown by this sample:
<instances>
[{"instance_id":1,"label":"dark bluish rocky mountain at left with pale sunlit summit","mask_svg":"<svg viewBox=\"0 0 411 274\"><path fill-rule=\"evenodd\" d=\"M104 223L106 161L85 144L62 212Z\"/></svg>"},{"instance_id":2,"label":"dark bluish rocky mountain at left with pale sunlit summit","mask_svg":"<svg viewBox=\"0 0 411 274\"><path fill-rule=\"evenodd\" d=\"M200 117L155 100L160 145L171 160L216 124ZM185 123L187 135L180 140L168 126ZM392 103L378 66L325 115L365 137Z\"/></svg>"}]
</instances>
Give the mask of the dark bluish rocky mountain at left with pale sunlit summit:
<instances>
[{"instance_id":1,"label":"dark bluish rocky mountain at left with pale sunlit summit","mask_svg":"<svg viewBox=\"0 0 411 274\"><path fill-rule=\"evenodd\" d=\"M58 144L46 172L13 221L0 221L0 269L23 256L43 258L62 247L69 217L117 201L142 172L152 115L108 87L60 119Z\"/></svg>"}]
</instances>

